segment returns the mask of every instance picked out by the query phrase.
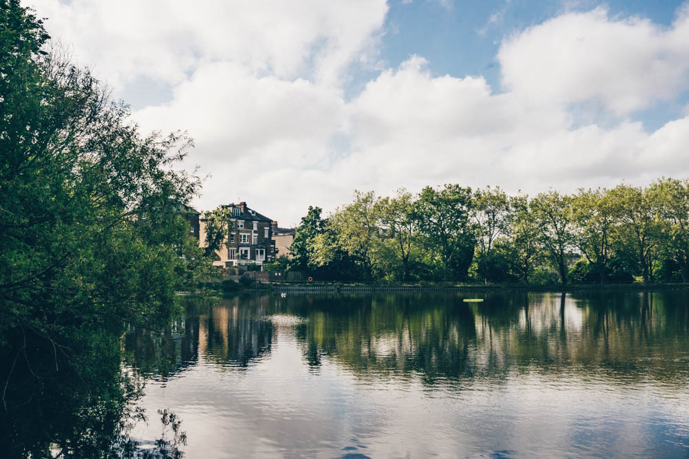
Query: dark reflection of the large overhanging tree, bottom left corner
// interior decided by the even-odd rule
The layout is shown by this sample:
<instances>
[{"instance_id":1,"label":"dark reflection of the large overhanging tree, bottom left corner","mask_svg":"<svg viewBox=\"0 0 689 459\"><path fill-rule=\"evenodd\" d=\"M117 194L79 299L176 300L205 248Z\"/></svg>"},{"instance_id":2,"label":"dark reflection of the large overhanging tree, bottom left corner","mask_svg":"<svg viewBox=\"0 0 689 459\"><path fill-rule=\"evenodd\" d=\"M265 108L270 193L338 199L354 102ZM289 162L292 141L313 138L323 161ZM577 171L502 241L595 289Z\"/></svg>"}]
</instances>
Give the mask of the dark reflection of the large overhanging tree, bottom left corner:
<instances>
[{"instance_id":1,"label":"dark reflection of the large overhanging tree, bottom left corner","mask_svg":"<svg viewBox=\"0 0 689 459\"><path fill-rule=\"evenodd\" d=\"M129 436L146 418L134 407L143 385L121 372L116 337L94 332L82 343L86 352L71 357L54 352L52 343L35 334L22 339L26 356L21 359L0 352L0 376L8 382L0 406L3 457L182 457L179 447L186 438L179 430L181 421L167 410L161 420L174 432L163 431L154 449L143 449Z\"/></svg>"}]
</instances>

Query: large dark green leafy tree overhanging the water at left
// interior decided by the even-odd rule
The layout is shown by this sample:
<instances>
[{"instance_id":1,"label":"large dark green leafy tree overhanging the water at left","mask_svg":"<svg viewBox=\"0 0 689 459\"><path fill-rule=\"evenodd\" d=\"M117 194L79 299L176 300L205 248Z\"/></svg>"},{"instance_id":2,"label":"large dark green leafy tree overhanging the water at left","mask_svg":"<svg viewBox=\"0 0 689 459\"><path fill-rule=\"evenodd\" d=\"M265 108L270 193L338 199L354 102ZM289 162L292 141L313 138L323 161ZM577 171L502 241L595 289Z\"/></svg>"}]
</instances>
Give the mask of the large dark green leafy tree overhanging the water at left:
<instances>
[{"instance_id":1,"label":"large dark green leafy tree overhanging the water at left","mask_svg":"<svg viewBox=\"0 0 689 459\"><path fill-rule=\"evenodd\" d=\"M199 187L174 169L192 141L141 136L127 106L47 40L30 10L0 0L2 445L65 374L79 386L55 392L78 402L60 405L65 418L99 401L123 409L120 380L101 392L99 375L121 368L125 321L174 314L201 259L176 211ZM70 445L60 426L41 427L31 456Z\"/></svg>"}]
</instances>

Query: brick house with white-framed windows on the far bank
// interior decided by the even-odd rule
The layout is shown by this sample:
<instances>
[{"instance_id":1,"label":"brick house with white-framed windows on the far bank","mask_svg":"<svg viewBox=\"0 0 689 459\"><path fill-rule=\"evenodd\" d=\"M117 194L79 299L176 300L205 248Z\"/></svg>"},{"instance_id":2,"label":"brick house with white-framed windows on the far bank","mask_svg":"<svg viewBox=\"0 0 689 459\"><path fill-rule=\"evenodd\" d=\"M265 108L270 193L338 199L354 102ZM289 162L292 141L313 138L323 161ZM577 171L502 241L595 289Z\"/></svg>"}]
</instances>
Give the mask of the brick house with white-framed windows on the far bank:
<instances>
[{"instance_id":1,"label":"brick house with white-framed windows on the far bank","mask_svg":"<svg viewBox=\"0 0 689 459\"><path fill-rule=\"evenodd\" d=\"M246 202L228 204L231 210L232 227L225 243L216 250L215 266L247 266L255 263L261 266L275 258L275 245L272 240L272 220L249 209ZM205 244L205 220L200 220L199 243Z\"/></svg>"}]
</instances>

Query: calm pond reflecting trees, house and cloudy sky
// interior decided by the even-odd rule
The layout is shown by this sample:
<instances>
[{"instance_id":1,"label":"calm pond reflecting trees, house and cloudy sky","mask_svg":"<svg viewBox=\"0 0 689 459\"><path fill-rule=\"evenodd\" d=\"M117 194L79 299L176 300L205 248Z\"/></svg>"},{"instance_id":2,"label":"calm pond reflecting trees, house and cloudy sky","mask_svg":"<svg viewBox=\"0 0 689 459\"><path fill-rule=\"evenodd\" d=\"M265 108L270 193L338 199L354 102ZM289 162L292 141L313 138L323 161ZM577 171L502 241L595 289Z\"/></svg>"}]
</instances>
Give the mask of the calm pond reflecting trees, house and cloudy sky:
<instances>
[{"instance_id":1,"label":"calm pond reflecting trees, house and cloudy sky","mask_svg":"<svg viewBox=\"0 0 689 459\"><path fill-rule=\"evenodd\" d=\"M187 303L124 359L189 458L689 453L688 292Z\"/></svg>"}]
</instances>

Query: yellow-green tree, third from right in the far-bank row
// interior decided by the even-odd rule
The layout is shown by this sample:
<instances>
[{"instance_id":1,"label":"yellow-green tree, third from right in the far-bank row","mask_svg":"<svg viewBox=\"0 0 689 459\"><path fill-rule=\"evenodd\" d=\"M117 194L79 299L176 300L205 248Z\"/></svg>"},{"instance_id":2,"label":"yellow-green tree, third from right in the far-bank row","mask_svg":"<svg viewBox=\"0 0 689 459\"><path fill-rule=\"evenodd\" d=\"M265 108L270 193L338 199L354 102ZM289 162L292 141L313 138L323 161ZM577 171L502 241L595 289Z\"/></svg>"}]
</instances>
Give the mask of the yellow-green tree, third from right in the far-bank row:
<instances>
[{"instance_id":1,"label":"yellow-green tree, third from right in the far-bank row","mask_svg":"<svg viewBox=\"0 0 689 459\"><path fill-rule=\"evenodd\" d=\"M572 206L574 243L605 284L615 226L610 196L606 190L580 189Z\"/></svg>"}]
</instances>

